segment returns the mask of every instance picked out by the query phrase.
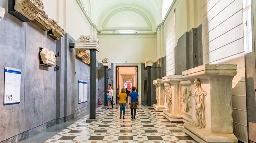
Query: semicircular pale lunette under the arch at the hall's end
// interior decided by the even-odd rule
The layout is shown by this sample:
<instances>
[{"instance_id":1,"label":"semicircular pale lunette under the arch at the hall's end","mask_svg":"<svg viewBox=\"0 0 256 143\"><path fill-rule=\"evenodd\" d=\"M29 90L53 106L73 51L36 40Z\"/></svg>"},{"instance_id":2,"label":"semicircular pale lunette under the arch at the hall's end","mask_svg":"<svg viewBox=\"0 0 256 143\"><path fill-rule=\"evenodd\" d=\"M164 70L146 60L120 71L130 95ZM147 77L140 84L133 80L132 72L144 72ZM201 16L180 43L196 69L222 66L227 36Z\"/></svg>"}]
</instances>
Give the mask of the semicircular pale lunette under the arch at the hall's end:
<instances>
[{"instance_id":1,"label":"semicircular pale lunette under the arch at the hall's end","mask_svg":"<svg viewBox=\"0 0 256 143\"><path fill-rule=\"evenodd\" d=\"M135 8L119 8L110 13L102 25L104 30L152 30L147 16Z\"/></svg>"}]
</instances>

